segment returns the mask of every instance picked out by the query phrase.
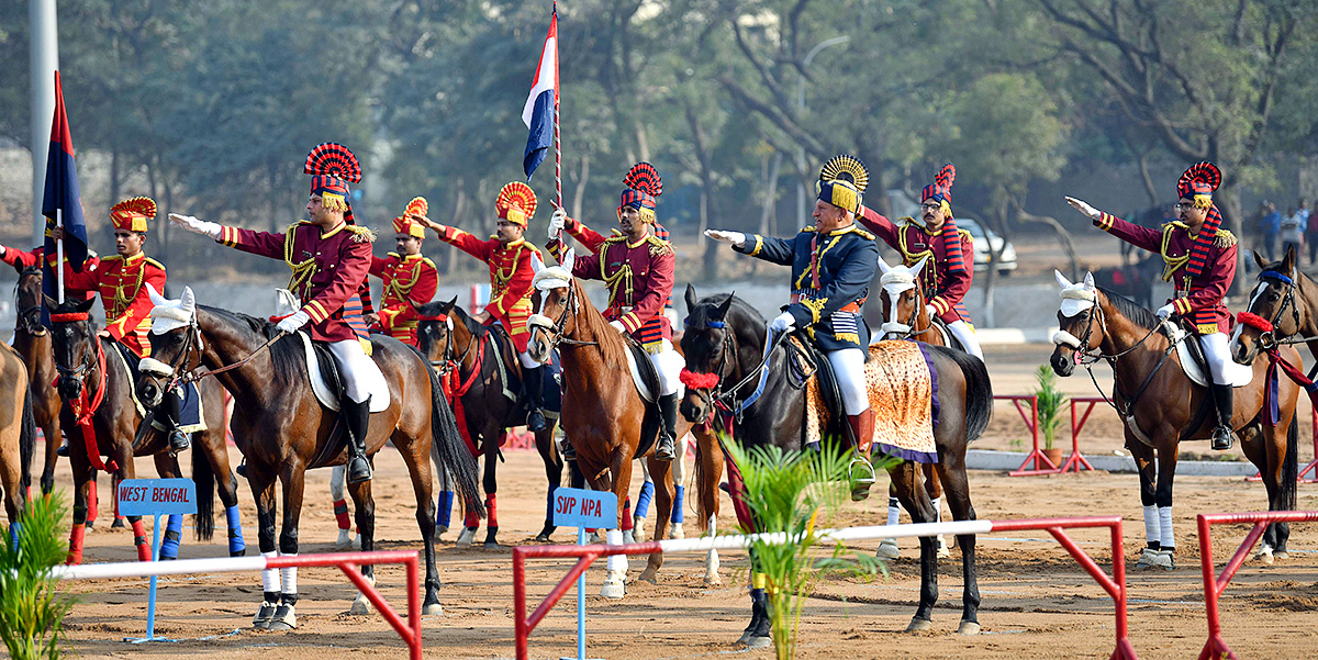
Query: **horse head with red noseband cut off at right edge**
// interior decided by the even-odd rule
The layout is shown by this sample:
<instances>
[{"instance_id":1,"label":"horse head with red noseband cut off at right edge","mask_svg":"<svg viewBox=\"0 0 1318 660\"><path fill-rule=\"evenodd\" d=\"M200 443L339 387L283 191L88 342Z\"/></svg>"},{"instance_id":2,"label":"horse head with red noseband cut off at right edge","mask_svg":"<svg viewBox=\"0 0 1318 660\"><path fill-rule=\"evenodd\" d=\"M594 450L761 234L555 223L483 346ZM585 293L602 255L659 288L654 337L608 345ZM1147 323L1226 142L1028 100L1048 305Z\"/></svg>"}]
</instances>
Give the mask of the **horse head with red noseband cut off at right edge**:
<instances>
[{"instance_id":1,"label":"horse head with red noseband cut off at right edge","mask_svg":"<svg viewBox=\"0 0 1318 660\"><path fill-rule=\"evenodd\" d=\"M1294 248L1286 249L1281 261L1268 263L1257 250L1259 285L1249 292L1249 307L1231 333L1231 358L1242 365L1253 364L1259 350L1268 350L1278 339L1298 335L1301 317L1309 307L1300 282L1305 275L1296 267Z\"/></svg>"}]
</instances>

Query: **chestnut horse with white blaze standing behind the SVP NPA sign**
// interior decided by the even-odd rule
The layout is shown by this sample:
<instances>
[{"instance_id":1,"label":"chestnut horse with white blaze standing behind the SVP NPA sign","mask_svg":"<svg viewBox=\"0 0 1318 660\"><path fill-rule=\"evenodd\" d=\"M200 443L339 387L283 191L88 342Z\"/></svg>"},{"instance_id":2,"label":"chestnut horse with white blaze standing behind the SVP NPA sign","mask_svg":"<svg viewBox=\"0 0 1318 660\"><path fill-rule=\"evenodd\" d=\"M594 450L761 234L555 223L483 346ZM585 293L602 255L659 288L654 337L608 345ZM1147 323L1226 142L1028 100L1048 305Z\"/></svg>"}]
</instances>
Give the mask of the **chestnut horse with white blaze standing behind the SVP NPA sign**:
<instances>
[{"instance_id":1,"label":"chestnut horse with white blaze standing behind the SVP NPA sign","mask_svg":"<svg viewBox=\"0 0 1318 660\"><path fill-rule=\"evenodd\" d=\"M556 348L563 364L564 433L577 452L577 468L594 490L609 490L618 497L618 519L623 516L627 489L631 485L631 464L641 457L654 456L651 433L658 433L659 412L647 406L633 382L627 366L627 340L618 333L604 315L590 303L581 283L572 277L572 250L564 254L560 266L546 267L535 260L535 314L527 321L531 331L529 352L539 362L550 360ZM638 360L645 360L638 358ZM638 365L641 366L641 365ZM655 393L658 394L658 393ZM692 424L679 420L676 437L691 431ZM701 440L702 449L710 439ZM667 536L673 502L672 465L668 461L650 461L650 476L655 483L655 539ZM621 530L609 530L610 544L621 543ZM656 581L663 565L663 553L650 555L641 580ZM716 581L717 572L706 564L706 581ZM608 574L600 591L606 598L625 594L627 563L623 555L609 557Z\"/></svg>"}]
</instances>

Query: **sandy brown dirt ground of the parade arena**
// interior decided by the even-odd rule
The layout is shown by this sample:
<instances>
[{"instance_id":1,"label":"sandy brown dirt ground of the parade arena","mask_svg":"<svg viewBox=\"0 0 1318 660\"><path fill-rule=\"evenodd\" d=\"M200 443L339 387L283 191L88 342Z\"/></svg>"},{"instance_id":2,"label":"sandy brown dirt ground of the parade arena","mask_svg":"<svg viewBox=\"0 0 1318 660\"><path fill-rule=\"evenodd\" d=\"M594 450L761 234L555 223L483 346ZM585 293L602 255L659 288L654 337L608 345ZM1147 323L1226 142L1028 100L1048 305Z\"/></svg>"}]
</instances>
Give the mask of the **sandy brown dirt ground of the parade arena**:
<instances>
[{"instance_id":1,"label":"sandy brown dirt ground of the parade arena","mask_svg":"<svg viewBox=\"0 0 1318 660\"><path fill-rule=\"evenodd\" d=\"M988 349L988 366L998 394L1024 394L1032 370L1046 360L1049 346ZM1110 373L1098 373L1111 382ZM1068 393L1093 395L1083 373L1061 381ZM1301 439L1311 435L1309 407L1302 404ZM1065 428L1065 427L1064 427ZM1065 436L1065 433L1064 433ZM1069 436L1068 441L1069 441ZM1082 435L1086 453L1112 453L1120 447L1120 427L1110 408L1097 407ZM987 436L974 448L1028 448L1028 435L1010 403L999 403ZM1207 456L1206 443L1184 453ZM232 452L235 464L237 452ZM1301 441L1301 465L1311 448ZM63 464L67 465L67 464ZM153 476L150 462L138 461L138 473ZM693 470L688 470L691 473ZM639 474L639 470L638 470ZM335 522L328 497L328 470L308 477L303 511L302 551L328 552ZM639 476L637 477L639 480ZM67 469L59 477L69 483ZM420 548L414 502L397 453L377 457L374 482L377 539L381 549ZM529 543L544 515L544 477L534 452L510 452L500 466L501 540ZM639 482L637 483L639 485ZM875 487L883 493L882 483ZM101 480L98 528L88 534L86 561L125 561L134 557L127 530L108 530L108 480ZM1144 544L1144 526L1133 474L1085 473L1014 478L1003 473L974 472L971 495L979 518L1041 518L1120 514L1126 519L1126 561L1131 568L1131 640L1143 659L1181 659L1198 653L1206 639L1202 577L1194 515L1199 512L1267 509L1260 483L1242 478L1181 477L1176 489L1177 568L1172 572L1133 572ZM731 507L724 497L720 524L731 526ZM693 498L688 498L693 503ZM886 498L847 507L836 524L882 524ZM1318 487L1300 486L1300 509L1318 509ZM250 493L243 489L243 526L249 552L256 552L256 515ZM654 512L651 514L654 515ZM456 518L456 516L455 516ZM695 511L688 509L687 530L693 534ZM182 557L225 555L223 518L216 540L198 544L185 531ZM1220 563L1234 552L1243 527L1218 527L1215 555ZM506 548L455 548L453 532L438 547L444 586L444 614L426 617L427 657L513 657L511 556ZM484 537L484 531L481 536ZM1077 531L1074 537L1098 564L1111 569L1107 530ZM555 539L569 543L575 534L560 530ZM874 552L878 541L855 544ZM932 632L909 635L903 628L915 611L919 565L913 539L903 540L903 559L891 564L887 578L873 581L828 578L805 605L799 657L1107 657L1114 648L1112 601L1045 532L990 534L978 539L979 620L983 634L954 634L960 619L960 553L940 570L941 599ZM1240 657L1313 657L1318 648L1318 526L1292 528L1290 559L1273 566L1246 564L1222 599L1224 634ZM651 659L708 657L738 652L731 643L749 620L746 555L722 553L721 586L701 582L702 556L667 559L658 585L629 585L622 601L590 595L587 601L588 657ZM532 560L529 593L539 599L561 578L568 561ZM633 559L631 576L641 561ZM602 565L587 573L588 594L598 591ZM402 569L377 569L385 597L403 609ZM348 615L355 590L339 569L299 572L298 630L265 632L249 628L261 601L260 577L252 574L179 576L162 578L157 634L175 643L132 646L124 638L145 632L146 581L115 580L70 582L79 605L67 620L72 651L79 657L204 656L211 659L357 659L403 657L402 642L378 615ZM531 657L560 657L576 652L575 597L560 606L531 635ZM771 649L741 651L749 657L772 657Z\"/></svg>"}]
</instances>

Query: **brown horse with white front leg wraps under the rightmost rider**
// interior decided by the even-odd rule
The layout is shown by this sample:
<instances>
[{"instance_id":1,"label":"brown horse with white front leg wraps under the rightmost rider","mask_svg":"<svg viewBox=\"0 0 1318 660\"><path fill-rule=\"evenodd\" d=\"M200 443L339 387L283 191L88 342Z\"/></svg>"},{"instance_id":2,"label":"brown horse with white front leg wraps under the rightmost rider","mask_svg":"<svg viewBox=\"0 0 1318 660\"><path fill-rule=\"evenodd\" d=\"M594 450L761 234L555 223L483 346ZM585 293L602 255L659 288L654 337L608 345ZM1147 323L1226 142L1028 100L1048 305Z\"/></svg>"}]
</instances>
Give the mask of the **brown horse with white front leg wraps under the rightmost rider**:
<instances>
[{"instance_id":1,"label":"brown horse with white front leg wraps under the rightmost rider","mask_svg":"<svg viewBox=\"0 0 1318 660\"><path fill-rule=\"evenodd\" d=\"M1062 286L1062 304L1057 312L1060 331L1053 336L1057 344L1050 358L1053 371L1066 377L1077 364L1087 365L1098 360L1106 360L1112 366L1110 403L1122 418L1126 448L1139 469L1148 534L1148 547L1136 568L1170 570L1176 565L1172 552L1176 548L1172 482L1177 452L1184 440L1211 436L1217 424L1211 395L1207 387L1195 385L1186 375L1176 350L1177 341L1169 337L1177 332L1172 323L1159 320L1147 308L1097 287L1091 274L1074 285L1061 273L1056 275ZM1298 364L1300 356L1292 346L1284 346L1281 356ZM1268 364L1260 360L1249 365L1252 378L1248 385L1235 389L1231 427L1240 437L1246 456L1263 473L1268 509L1292 510L1296 506L1298 472L1294 412L1300 387L1289 378L1277 382L1273 402L1276 418L1272 418L1272 411L1264 406ZM1281 428L1286 431L1278 431ZM1289 526L1275 523L1264 532L1264 543L1278 556L1285 556L1289 534Z\"/></svg>"}]
</instances>

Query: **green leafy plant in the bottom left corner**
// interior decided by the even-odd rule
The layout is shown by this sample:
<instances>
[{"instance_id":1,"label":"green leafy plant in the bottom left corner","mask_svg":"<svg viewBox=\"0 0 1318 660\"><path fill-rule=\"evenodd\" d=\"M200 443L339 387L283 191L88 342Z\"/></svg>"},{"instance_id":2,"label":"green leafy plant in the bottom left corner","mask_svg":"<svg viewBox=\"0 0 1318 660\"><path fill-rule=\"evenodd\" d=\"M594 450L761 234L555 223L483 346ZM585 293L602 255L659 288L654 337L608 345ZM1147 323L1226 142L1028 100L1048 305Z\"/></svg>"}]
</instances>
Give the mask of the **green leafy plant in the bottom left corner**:
<instances>
[{"instance_id":1,"label":"green leafy plant in the bottom left corner","mask_svg":"<svg viewBox=\"0 0 1318 660\"><path fill-rule=\"evenodd\" d=\"M50 569L65 560L66 515L62 494L37 498L28 503L17 544L9 534L0 544L0 639L14 660L61 657L62 622L74 601L57 591Z\"/></svg>"}]
</instances>

